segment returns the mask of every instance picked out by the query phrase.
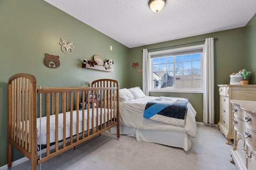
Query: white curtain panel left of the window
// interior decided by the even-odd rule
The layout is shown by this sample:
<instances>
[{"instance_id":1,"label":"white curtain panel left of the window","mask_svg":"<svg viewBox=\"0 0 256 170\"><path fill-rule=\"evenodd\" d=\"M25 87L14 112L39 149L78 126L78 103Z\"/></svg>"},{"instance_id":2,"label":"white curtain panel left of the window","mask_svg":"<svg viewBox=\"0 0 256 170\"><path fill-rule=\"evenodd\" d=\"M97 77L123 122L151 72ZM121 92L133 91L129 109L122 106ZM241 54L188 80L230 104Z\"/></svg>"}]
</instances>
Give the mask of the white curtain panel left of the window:
<instances>
[{"instance_id":1,"label":"white curtain panel left of the window","mask_svg":"<svg viewBox=\"0 0 256 170\"><path fill-rule=\"evenodd\" d=\"M143 49L142 56L142 91L148 96L148 50Z\"/></svg>"}]
</instances>

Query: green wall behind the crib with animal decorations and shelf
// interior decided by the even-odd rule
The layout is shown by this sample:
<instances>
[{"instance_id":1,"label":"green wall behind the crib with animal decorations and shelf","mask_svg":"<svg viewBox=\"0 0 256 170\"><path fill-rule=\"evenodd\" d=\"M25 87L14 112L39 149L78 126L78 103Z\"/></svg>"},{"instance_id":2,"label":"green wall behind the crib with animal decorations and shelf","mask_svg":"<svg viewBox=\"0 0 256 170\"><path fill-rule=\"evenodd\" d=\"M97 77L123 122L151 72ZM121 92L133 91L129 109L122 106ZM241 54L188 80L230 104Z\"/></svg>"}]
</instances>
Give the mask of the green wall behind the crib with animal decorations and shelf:
<instances>
[{"instance_id":1,"label":"green wall behind the crib with animal decorations and shelf","mask_svg":"<svg viewBox=\"0 0 256 170\"><path fill-rule=\"evenodd\" d=\"M0 167L7 164L7 82L16 73L33 74L43 87L89 86L112 78L127 86L129 48L43 0L0 0ZM60 38L73 42L61 51ZM110 51L110 45L113 50ZM59 68L44 64L45 53L60 56ZM114 61L114 72L82 68L94 55ZM13 160L21 158L13 152Z\"/></svg>"}]
</instances>

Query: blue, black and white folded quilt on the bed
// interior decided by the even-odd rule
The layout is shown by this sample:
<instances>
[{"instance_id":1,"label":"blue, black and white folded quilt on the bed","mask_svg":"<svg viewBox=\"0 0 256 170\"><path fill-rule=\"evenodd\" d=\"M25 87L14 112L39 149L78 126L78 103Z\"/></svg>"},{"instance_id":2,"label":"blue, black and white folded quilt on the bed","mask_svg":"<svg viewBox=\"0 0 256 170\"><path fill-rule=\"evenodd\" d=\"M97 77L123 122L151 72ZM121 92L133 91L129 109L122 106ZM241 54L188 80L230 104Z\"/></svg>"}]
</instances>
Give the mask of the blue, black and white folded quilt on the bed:
<instances>
[{"instance_id":1,"label":"blue, black and white folded quilt on the bed","mask_svg":"<svg viewBox=\"0 0 256 170\"><path fill-rule=\"evenodd\" d=\"M176 126L185 126L188 99L160 97L146 104L143 117Z\"/></svg>"}]
</instances>

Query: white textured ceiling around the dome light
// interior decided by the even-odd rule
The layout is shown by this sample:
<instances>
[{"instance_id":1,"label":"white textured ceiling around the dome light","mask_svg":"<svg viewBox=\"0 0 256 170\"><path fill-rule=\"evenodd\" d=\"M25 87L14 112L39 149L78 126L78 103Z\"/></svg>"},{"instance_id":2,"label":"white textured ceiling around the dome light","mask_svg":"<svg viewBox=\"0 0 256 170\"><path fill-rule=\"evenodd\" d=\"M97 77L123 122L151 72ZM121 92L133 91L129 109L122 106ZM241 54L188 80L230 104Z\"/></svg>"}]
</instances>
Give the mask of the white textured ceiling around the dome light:
<instances>
[{"instance_id":1,"label":"white textured ceiling around the dome light","mask_svg":"<svg viewBox=\"0 0 256 170\"><path fill-rule=\"evenodd\" d=\"M167 0L155 13L148 0L45 0L132 48L244 27L256 0Z\"/></svg>"}]
</instances>

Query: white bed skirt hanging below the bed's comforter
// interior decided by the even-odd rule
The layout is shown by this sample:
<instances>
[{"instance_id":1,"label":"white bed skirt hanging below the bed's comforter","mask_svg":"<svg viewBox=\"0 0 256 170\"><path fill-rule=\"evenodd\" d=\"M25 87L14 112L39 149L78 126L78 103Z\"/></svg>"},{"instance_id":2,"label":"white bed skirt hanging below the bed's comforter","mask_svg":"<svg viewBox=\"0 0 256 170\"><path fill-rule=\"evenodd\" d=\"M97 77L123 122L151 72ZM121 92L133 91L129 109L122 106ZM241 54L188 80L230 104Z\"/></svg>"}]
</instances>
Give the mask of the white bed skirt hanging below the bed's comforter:
<instances>
[{"instance_id":1,"label":"white bed skirt hanging below the bed's comforter","mask_svg":"<svg viewBox=\"0 0 256 170\"><path fill-rule=\"evenodd\" d=\"M116 127L112 127L106 132L116 134ZM183 148L185 151L190 149L193 140L193 138L186 132L148 131L124 125L120 125L120 135L135 137L137 141L152 142L171 147Z\"/></svg>"}]
</instances>

